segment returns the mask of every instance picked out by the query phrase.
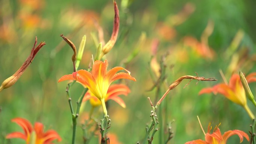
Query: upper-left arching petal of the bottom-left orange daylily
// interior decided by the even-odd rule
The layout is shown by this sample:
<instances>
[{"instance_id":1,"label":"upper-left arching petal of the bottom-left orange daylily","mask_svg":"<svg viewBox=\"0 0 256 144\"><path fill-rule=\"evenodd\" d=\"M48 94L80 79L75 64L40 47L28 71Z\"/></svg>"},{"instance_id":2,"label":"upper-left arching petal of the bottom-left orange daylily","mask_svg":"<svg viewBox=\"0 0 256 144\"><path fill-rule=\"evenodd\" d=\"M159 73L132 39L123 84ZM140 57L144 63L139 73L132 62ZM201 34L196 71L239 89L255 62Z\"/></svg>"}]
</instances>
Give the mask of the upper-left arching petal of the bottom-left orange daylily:
<instances>
[{"instance_id":1,"label":"upper-left arching petal of the bottom-left orange daylily","mask_svg":"<svg viewBox=\"0 0 256 144\"><path fill-rule=\"evenodd\" d=\"M15 122L19 126L21 126L21 128L25 132L25 136L26 137L33 131L33 127L31 125L31 123L28 120L26 120L26 119L15 118L15 119L12 119L12 122Z\"/></svg>"}]
</instances>

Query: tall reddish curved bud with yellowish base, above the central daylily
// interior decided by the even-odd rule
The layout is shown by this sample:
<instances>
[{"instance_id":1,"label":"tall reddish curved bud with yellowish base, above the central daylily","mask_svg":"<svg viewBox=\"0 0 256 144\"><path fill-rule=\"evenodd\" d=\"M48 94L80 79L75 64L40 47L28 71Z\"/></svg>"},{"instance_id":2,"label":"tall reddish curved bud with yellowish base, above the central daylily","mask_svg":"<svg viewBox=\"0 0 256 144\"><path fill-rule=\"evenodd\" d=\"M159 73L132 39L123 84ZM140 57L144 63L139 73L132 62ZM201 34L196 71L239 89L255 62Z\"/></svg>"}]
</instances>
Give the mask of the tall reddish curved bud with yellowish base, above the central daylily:
<instances>
[{"instance_id":1,"label":"tall reddish curved bud with yellowish base, above the central daylily","mask_svg":"<svg viewBox=\"0 0 256 144\"><path fill-rule=\"evenodd\" d=\"M111 38L110 38L109 42L107 42L106 45L104 45L104 47L102 49L102 54L103 55L108 53L113 48L113 46L116 43L117 36L118 36L118 30L119 30L119 23L120 22L119 22L119 10L118 10L118 6L116 4L116 1L114 1L114 9L115 9L115 18L114 18L113 31L112 31L112 35L111 35Z\"/></svg>"}]
</instances>

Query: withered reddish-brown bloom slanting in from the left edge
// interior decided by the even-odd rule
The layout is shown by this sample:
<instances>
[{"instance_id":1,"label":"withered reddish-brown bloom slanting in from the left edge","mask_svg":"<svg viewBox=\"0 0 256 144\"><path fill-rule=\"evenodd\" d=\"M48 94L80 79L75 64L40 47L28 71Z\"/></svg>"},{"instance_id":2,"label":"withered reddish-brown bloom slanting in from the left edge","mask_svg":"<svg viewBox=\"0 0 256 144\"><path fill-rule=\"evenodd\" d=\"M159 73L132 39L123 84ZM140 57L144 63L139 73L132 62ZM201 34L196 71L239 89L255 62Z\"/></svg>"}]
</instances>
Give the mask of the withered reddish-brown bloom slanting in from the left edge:
<instances>
[{"instance_id":1,"label":"withered reddish-brown bloom slanting in from the left edge","mask_svg":"<svg viewBox=\"0 0 256 144\"><path fill-rule=\"evenodd\" d=\"M16 71L15 74L13 74L12 76L10 76L9 78L7 78L6 80L3 81L2 85L0 86L0 92L3 89L9 88L10 86L14 85L17 82L17 80L24 73L24 71L26 70L28 65L30 65L31 62L33 61L34 57L36 56L36 53L46 44L45 42L40 42L39 45L35 48L36 43L37 43L37 37L36 37L34 46L31 50L31 53L28 56L28 58L26 59L26 61L24 62L24 64L21 66L21 68L19 68L18 71Z\"/></svg>"}]
</instances>

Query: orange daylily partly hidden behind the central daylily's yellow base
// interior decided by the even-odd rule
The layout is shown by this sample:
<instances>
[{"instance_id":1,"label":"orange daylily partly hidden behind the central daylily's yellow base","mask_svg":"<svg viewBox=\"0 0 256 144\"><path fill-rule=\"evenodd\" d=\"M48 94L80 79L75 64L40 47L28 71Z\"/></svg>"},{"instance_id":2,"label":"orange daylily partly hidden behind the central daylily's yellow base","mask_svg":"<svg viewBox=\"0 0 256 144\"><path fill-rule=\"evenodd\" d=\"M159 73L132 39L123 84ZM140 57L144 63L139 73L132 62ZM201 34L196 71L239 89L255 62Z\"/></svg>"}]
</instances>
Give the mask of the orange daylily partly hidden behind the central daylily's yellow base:
<instances>
[{"instance_id":1,"label":"orange daylily partly hidden behind the central daylily's yellow base","mask_svg":"<svg viewBox=\"0 0 256 144\"><path fill-rule=\"evenodd\" d=\"M127 96L129 93L130 93L130 89L126 85L123 85L123 84L111 85L107 90L105 102L112 99L113 101L121 105L121 107L125 108L126 107L125 102L118 96L119 95ZM101 105L100 100L94 94L92 94L91 91L86 92L85 96L83 97L83 102L87 100L90 100L90 103L93 107L97 107Z\"/></svg>"}]
</instances>

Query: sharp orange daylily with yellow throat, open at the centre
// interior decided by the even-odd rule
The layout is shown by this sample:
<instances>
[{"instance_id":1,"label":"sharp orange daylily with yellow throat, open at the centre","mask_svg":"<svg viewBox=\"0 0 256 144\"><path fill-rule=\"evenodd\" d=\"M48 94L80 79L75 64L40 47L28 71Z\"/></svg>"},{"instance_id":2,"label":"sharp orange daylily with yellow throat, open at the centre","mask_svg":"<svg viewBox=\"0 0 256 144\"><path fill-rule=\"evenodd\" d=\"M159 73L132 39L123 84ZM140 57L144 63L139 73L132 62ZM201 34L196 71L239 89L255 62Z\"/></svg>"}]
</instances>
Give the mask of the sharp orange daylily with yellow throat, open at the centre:
<instances>
[{"instance_id":1,"label":"sharp orange daylily with yellow throat, open at the centre","mask_svg":"<svg viewBox=\"0 0 256 144\"><path fill-rule=\"evenodd\" d=\"M107 115L107 110L105 106L105 98L107 96L107 91L110 84L118 79L130 79L136 81L134 77L130 75L130 72L122 67L114 67L107 72L108 62L105 60L95 61L92 66L92 72L86 70L79 70L73 74L68 74L61 77L58 82L63 80L76 80L86 86L93 95L95 95L100 101L103 107L103 112ZM125 70L127 73L121 72L120 70Z\"/></svg>"}]
</instances>

